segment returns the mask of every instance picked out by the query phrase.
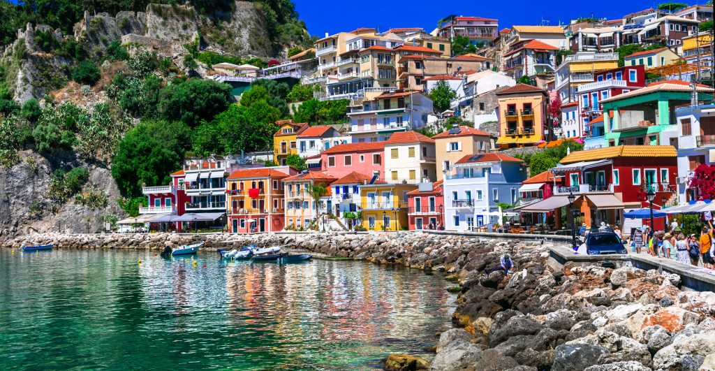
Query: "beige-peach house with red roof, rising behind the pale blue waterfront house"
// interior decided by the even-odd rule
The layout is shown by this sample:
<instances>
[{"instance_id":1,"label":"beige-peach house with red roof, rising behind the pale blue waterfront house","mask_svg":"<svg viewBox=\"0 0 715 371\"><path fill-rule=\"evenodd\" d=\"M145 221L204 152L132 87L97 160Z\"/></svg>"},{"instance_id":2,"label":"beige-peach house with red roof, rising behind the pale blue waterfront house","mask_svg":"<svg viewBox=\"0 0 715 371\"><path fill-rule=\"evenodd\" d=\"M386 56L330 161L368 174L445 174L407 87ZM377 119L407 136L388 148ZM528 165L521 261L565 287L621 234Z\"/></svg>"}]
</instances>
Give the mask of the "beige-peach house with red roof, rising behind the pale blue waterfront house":
<instances>
[{"instance_id":1,"label":"beige-peach house with red roof, rising behind the pale blue waterfront house","mask_svg":"<svg viewBox=\"0 0 715 371\"><path fill-rule=\"evenodd\" d=\"M435 141L435 154L438 168L437 180L452 171L452 165L465 154L477 154L490 150L490 135L473 127L458 126L432 137Z\"/></svg>"}]
</instances>

